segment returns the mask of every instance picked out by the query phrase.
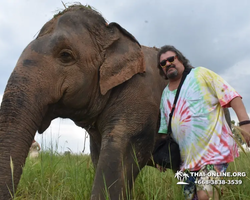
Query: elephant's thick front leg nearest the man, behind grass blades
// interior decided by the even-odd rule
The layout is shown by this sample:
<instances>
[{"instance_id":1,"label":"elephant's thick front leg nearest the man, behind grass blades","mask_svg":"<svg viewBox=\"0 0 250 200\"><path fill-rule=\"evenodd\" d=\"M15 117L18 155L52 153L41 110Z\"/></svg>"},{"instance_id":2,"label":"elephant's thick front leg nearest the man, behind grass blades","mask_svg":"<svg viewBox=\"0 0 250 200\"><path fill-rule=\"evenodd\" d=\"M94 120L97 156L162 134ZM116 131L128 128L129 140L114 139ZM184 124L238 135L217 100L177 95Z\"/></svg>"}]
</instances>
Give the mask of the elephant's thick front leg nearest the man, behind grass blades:
<instances>
[{"instance_id":1,"label":"elephant's thick front leg nearest the man, behind grass blades","mask_svg":"<svg viewBox=\"0 0 250 200\"><path fill-rule=\"evenodd\" d=\"M132 134L117 125L102 138L92 200L129 199L133 179L150 157L153 134L142 130L129 135Z\"/></svg>"}]
</instances>

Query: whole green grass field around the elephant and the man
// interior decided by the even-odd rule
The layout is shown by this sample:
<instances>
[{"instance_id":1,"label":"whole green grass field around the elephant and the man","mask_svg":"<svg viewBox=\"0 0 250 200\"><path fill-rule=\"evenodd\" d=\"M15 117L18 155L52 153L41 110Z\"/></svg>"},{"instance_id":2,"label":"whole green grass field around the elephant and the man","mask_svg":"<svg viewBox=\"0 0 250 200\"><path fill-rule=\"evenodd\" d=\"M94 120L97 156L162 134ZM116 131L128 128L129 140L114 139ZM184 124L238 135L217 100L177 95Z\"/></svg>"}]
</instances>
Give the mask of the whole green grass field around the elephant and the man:
<instances>
[{"instance_id":1,"label":"whole green grass field around the elephant and the man","mask_svg":"<svg viewBox=\"0 0 250 200\"><path fill-rule=\"evenodd\" d=\"M250 199L250 154L241 153L228 171L246 172L246 177L235 177L242 185L223 185L224 200ZM15 200L82 200L90 199L94 168L88 155L59 155L56 152L41 152L37 159L26 160ZM231 178L232 179L232 178ZM136 179L132 190L133 200L182 200L182 188L177 185L174 173L159 172L145 167Z\"/></svg>"}]
</instances>

